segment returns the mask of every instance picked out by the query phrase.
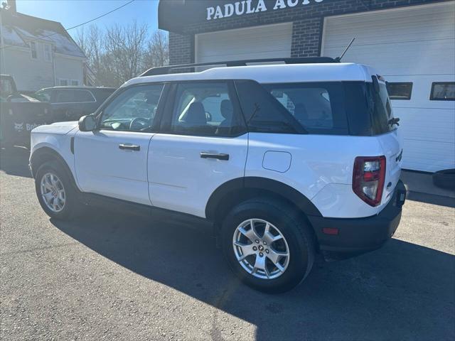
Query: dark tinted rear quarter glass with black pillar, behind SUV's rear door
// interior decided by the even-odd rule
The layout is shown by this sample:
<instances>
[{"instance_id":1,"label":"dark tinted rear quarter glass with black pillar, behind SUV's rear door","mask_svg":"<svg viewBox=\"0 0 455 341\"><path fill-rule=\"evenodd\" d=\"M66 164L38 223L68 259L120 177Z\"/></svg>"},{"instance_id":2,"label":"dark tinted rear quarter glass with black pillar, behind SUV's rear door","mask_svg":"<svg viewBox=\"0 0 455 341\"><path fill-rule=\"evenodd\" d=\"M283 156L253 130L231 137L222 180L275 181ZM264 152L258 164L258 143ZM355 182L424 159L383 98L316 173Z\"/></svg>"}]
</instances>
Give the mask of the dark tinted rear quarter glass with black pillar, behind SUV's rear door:
<instances>
[{"instance_id":1,"label":"dark tinted rear quarter glass with black pillar, behind SUV's rear door","mask_svg":"<svg viewBox=\"0 0 455 341\"><path fill-rule=\"evenodd\" d=\"M236 80L249 131L373 136L395 129L385 82Z\"/></svg>"}]
</instances>

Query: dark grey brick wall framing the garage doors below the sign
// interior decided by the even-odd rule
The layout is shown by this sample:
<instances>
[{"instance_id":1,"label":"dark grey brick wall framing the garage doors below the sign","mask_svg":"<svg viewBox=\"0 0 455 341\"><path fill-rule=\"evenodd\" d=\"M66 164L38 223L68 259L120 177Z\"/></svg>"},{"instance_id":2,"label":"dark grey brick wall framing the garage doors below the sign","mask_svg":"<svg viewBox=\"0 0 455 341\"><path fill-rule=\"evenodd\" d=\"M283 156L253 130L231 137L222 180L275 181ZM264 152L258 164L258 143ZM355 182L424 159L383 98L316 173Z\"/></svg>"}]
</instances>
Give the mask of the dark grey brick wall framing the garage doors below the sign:
<instances>
[{"instance_id":1,"label":"dark grey brick wall framing the garage doors below the sign","mask_svg":"<svg viewBox=\"0 0 455 341\"><path fill-rule=\"evenodd\" d=\"M204 21L188 26L182 34L169 34L170 63L193 63L194 35L197 33L289 21L293 23L291 57L318 56L321 49L323 18L326 16L441 1L449 0L324 0L319 4L312 1L306 6Z\"/></svg>"}]
</instances>

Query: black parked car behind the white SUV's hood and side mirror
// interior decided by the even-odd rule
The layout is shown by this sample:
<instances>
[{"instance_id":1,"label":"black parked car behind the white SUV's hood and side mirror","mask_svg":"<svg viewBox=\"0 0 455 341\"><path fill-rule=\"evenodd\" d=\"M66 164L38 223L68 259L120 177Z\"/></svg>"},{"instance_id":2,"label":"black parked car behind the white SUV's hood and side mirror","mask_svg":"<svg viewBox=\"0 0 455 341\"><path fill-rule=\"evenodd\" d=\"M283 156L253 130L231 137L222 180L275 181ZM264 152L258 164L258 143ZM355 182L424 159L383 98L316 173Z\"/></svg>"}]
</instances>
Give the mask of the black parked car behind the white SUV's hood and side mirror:
<instances>
[{"instance_id":1,"label":"black parked car behind the white SUV's hood and side mirror","mask_svg":"<svg viewBox=\"0 0 455 341\"><path fill-rule=\"evenodd\" d=\"M33 97L51 104L55 121L77 121L95 112L114 91L113 87L47 87Z\"/></svg>"}]
</instances>

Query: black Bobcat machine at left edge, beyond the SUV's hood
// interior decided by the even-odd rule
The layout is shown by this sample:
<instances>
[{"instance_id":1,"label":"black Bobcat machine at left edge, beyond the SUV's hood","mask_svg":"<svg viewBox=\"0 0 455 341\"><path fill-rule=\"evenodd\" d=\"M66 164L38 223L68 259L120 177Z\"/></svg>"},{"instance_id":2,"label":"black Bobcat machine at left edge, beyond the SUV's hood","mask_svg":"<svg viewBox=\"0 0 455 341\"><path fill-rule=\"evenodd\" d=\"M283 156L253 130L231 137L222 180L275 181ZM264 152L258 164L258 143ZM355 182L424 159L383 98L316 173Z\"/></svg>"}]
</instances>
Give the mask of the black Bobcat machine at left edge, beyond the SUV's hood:
<instances>
[{"instance_id":1,"label":"black Bobcat machine at left edge, beyond the SUV's hood","mask_svg":"<svg viewBox=\"0 0 455 341\"><path fill-rule=\"evenodd\" d=\"M11 75L0 75L0 146L30 146L30 131L54 121L49 103L18 92Z\"/></svg>"}]
</instances>

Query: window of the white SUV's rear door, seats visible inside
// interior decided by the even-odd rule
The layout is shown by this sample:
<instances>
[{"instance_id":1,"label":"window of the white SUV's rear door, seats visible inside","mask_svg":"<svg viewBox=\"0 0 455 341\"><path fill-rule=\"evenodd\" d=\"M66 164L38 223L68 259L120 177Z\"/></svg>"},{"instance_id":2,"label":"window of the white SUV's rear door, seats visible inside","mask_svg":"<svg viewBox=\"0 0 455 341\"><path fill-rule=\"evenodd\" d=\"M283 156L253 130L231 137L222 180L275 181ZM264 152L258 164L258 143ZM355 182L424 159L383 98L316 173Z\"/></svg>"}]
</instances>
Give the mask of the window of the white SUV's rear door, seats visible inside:
<instances>
[{"instance_id":1,"label":"window of the white SUV's rear door, seats visible inside","mask_svg":"<svg viewBox=\"0 0 455 341\"><path fill-rule=\"evenodd\" d=\"M176 134L234 136L244 130L228 82L176 85L171 131Z\"/></svg>"}]
</instances>

